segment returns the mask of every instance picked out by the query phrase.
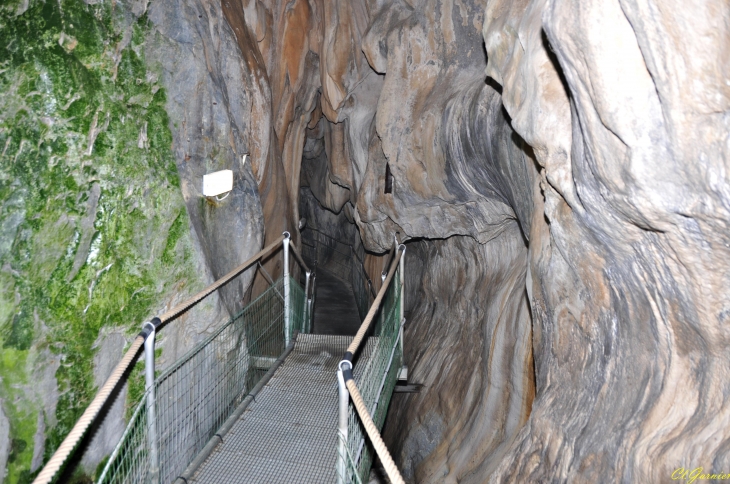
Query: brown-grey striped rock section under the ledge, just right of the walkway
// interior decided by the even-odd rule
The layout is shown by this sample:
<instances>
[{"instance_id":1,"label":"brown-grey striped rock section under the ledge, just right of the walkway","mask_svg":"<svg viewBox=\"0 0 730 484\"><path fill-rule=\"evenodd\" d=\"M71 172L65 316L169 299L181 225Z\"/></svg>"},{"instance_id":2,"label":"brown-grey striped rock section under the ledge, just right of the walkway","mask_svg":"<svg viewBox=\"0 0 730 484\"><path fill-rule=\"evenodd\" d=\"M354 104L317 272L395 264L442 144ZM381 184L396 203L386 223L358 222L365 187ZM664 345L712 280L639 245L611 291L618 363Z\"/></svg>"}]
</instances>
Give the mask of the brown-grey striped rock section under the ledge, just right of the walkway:
<instances>
[{"instance_id":1,"label":"brown-grey striped rock section under the ledge, just right of the walkway","mask_svg":"<svg viewBox=\"0 0 730 484\"><path fill-rule=\"evenodd\" d=\"M527 249L513 222L407 244L405 359L419 393L395 394L385 438L413 482L484 480L534 397ZM447 276L448 275L448 276Z\"/></svg>"}]
</instances>

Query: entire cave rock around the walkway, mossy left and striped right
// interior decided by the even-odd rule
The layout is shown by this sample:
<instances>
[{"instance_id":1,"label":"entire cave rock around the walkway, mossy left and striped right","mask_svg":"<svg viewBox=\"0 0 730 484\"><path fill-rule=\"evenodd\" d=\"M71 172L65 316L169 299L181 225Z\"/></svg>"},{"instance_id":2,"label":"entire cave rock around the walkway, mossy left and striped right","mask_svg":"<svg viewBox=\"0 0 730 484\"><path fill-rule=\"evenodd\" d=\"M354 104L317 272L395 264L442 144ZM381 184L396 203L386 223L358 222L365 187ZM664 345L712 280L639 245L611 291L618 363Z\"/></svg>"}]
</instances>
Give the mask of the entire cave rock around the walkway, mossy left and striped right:
<instances>
[{"instance_id":1,"label":"entire cave rock around the walkway, mossy left and striped right","mask_svg":"<svg viewBox=\"0 0 730 484\"><path fill-rule=\"evenodd\" d=\"M394 397L385 438L408 479L730 468L726 2L6 3L10 482L93 394L101 330L137 327L285 229L296 242L300 215L357 228L371 276L406 242L424 387ZM232 194L202 199L224 168ZM186 315L163 360L249 286Z\"/></svg>"}]
</instances>

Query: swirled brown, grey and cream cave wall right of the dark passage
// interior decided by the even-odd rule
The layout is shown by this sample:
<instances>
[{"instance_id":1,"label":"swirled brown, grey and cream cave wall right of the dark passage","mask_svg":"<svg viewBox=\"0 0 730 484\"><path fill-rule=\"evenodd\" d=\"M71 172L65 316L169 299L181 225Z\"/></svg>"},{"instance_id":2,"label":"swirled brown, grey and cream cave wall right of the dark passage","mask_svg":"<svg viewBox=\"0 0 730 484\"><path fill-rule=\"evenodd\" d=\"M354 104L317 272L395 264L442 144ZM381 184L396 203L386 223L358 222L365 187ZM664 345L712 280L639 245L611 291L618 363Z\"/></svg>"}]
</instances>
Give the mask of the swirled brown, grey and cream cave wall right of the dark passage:
<instances>
[{"instance_id":1,"label":"swirled brown, grey and cream cave wall right of the dark passage","mask_svg":"<svg viewBox=\"0 0 730 484\"><path fill-rule=\"evenodd\" d=\"M333 5L338 16L316 18L324 31L356 15ZM408 476L657 481L727 466L729 12L719 1L367 2L351 41L378 82L345 99L372 121L353 136L328 113L321 77L301 169L323 206L352 204L368 249L394 232L414 240L406 358L427 385L394 400L386 431ZM434 281L460 274L496 313L434 303L453 293ZM454 351L445 342L462 327L472 338ZM502 332L485 339L491 328ZM522 353L492 364L504 348ZM486 383L452 388L475 381Z\"/></svg>"}]
</instances>

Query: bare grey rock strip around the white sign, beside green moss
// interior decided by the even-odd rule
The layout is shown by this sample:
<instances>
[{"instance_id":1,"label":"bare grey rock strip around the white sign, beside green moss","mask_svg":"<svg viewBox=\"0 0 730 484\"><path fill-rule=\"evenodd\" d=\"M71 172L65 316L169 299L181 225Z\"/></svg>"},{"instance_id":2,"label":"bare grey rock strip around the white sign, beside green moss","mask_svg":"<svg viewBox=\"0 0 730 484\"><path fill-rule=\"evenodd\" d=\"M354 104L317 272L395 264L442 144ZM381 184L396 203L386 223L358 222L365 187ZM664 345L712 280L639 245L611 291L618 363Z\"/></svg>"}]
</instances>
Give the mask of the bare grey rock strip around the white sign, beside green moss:
<instances>
[{"instance_id":1,"label":"bare grey rock strip around the white sign, beside green moss","mask_svg":"<svg viewBox=\"0 0 730 484\"><path fill-rule=\"evenodd\" d=\"M160 66L167 89L182 194L217 279L263 245L254 163L269 156L265 74L253 55L241 54L245 51L217 2L154 2L148 16L154 28L146 52L149 63ZM244 154L255 161L244 165ZM203 175L224 169L234 172L233 191L220 201L204 198ZM230 314L241 310L252 277L247 273L221 290Z\"/></svg>"}]
</instances>

